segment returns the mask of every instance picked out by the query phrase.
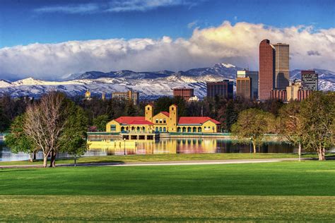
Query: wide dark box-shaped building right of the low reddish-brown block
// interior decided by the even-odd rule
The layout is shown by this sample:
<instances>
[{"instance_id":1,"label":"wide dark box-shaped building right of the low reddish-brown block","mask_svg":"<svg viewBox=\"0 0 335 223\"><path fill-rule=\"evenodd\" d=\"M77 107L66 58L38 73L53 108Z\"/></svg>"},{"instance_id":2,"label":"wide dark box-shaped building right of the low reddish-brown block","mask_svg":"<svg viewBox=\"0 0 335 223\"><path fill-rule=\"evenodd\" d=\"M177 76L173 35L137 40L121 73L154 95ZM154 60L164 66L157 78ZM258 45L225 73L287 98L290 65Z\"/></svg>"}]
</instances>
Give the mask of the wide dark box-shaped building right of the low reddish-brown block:
<instances>
[{"instance_id":1,"label":"wide dark box-shaped building right of the low reddish-brown block","mask_svg":"<svg viewBox=\"0 0 335 223\"><path fill-rule=\"evenodd\" d=\"M207 97L233 98L234 83L230 80L207 82Z\"/></svg>"}]
</instances>

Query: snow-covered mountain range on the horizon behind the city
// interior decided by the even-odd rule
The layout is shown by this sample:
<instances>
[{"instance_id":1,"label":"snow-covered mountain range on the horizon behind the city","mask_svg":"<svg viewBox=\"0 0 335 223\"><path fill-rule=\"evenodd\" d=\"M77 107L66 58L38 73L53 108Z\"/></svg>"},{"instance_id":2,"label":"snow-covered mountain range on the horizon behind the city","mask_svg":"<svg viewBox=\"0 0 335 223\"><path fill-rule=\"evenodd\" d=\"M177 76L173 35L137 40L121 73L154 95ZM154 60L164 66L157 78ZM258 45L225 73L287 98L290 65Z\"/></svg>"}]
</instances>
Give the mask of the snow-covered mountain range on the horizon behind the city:
<instances>
[{"instance_id":1,"label":"snow-covered mountain range on the horizon behind the city","mask_svg":"<svg viewBox=\"0 0 335 223\"><path fill-rule=\"evenodd\" d=\"M8 81L0 79L0 95L8 94L12 97L28 95L40 97L49 90L59 90L67 95L84 95L89 90L92 95L100 96L102 92L111 97L115 91L132 89L140 92L140 97L155 98L163 95L172 95L172 88L194 88L198 97L206 95L206 82L223 79L235 80L236 71L242 70L232 64L215 64L212 67L193 68L188 71L88 71L75 73L57 81L25 78ZM319 89L335 90L335 72L322 69L313 69L319 73ZM290 71L290 78L300 79L300 71Z\"/></svg>"}]
</instances>

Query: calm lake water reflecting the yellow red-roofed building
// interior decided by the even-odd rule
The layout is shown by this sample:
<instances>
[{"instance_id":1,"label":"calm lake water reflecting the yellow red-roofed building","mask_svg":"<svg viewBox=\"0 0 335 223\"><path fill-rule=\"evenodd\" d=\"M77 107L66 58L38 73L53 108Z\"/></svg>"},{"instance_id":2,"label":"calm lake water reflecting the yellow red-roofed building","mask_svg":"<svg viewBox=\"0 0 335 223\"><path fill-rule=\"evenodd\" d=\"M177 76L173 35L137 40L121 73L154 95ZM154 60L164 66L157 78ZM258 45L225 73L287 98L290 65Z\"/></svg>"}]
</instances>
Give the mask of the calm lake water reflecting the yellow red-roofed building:
<instances>
[{"instance_id":1,"label":"calm lake water reflecting the yellow red-roofed building","mask_svg":"<svg viewBox=\"0 0 335 223\"><path fill-rule=\"evenodd\" d=\"M159 141L138 142L136 145L116 143L113 147L93 149L84 156L106 155L146 155L146 154L175 154L175 153L225 153L225 152L250 152L251 145L233 143L231 140L221 139L166 139ZM288 153L298 152L298 148L288 143L267 142L257 148L257 152ZM58 157L69 157L67 154L59 154ZM0 141L0 161L16 161L29 159L29 155L23 152L15 154ZM37 154L37 159L42 159L42 154Z\"/></svg>"}]
</instances>

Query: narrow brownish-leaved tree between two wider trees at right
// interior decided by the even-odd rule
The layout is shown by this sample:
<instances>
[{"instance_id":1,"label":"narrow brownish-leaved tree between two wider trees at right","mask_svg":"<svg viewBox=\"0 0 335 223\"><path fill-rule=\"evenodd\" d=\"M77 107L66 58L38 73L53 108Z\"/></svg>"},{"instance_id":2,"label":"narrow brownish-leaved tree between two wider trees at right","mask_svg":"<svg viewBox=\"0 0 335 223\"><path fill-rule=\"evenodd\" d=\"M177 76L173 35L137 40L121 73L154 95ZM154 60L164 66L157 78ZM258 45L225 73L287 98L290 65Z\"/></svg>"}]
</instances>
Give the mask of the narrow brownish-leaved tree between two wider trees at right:
<instances>
[{"instance_id":1,"label":"narrow brownish-leaved tree between two wider trees at right","mask_svg":"<svg viewBox=\"0 0 335 223\"><path fill-rule=\"evenodd\" d=\"M301 159L301 117L300 117L300 102L290 102L278 111L277 130L278 133L293 145L298 145L299 161Z\"/></svg>"}]
</instances>

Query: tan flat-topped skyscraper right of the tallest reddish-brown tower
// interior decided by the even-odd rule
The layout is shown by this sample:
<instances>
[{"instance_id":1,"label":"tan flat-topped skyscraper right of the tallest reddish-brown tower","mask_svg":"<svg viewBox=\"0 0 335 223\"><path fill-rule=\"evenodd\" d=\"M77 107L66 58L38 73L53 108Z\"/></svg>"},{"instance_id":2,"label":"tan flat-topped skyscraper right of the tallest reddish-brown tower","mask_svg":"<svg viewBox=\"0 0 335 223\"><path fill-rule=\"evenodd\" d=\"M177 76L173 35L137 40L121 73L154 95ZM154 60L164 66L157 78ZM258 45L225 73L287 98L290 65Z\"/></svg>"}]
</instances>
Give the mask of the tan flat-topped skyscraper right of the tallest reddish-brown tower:
<instances>
[{"instance_id":1,"label":"tan flat-topped skyscraper right of the tallest reddish-brown tower","mask_svg":"<svg viewBox=\"0 0 335 223\"><path fill-rule=\"evenodd\" d=\"M290 80L290 47L285 43L274 44L276 49L276 70L275 87L276 89L286 89Z\"/></svg>"}]
</instances>

